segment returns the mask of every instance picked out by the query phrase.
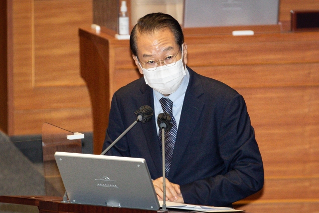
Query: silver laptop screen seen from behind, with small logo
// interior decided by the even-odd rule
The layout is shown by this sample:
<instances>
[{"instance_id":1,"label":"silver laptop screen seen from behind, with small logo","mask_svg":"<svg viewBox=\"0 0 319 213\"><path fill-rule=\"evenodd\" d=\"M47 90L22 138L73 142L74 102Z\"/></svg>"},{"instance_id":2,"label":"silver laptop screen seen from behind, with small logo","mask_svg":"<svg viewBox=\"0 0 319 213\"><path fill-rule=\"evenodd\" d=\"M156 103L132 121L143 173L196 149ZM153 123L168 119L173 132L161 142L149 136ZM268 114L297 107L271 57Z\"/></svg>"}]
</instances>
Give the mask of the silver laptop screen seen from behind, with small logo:
<instances>
[{"instance_id":1,"label":"silver laptop screen seen from behind, with small logo","mask_svg":"<svg viewBox=\"0 0 319 213\"><path fill-rule=\"evenodd\" d=\"M159 210L145 159L56 152L70 203Z\"/></svg>"}]
</instances>

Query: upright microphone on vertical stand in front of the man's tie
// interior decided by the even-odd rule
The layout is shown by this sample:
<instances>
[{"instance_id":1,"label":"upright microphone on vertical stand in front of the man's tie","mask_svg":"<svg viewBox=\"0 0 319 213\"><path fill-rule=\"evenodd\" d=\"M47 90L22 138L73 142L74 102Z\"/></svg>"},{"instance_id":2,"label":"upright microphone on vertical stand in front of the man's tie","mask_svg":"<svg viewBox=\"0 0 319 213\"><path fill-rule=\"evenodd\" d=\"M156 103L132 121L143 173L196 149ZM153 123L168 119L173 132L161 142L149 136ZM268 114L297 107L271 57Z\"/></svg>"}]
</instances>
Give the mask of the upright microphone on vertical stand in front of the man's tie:
<instances>
[{"instance_id":1,"label":"upright microphone on vertical stand in front of the man's tie","mask_svg":"<svg viewBox=\"0 0 319 213\"><path fill-rule=\"evenodd\" d=\"M162 149L162 173L163 173L163 205L162 210L166 210L166 182L165 182L165 132L168 132L173 124L170 123L171 116L167 113L160 113L158 116L158 126L161 129L161 149Z\"/></svg>"}]
</instances>

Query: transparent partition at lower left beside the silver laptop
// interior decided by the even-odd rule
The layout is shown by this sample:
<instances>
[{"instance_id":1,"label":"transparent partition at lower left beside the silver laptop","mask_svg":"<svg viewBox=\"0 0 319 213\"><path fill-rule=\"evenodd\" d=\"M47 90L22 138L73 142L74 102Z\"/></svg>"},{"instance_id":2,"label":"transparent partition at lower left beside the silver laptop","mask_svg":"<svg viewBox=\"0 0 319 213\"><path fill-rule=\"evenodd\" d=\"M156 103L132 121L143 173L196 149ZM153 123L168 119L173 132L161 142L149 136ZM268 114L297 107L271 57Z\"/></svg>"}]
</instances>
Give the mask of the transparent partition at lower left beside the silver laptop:
<instances>
[{"instance_id":1,"label":"transparent partition at lower left beside the silver laptop","mask_svg":"<svg viewBox=\"0 0 319 213\"><path fill-rule=\"evenodd\" d=\"M82 139L69 140L73 132L44 123L42 135L12 136L0 131L0 195L57 196L64 186L54 153L82 152ZM0 213L2 213L0 208Z\"/></svg>"}]
</instances>

